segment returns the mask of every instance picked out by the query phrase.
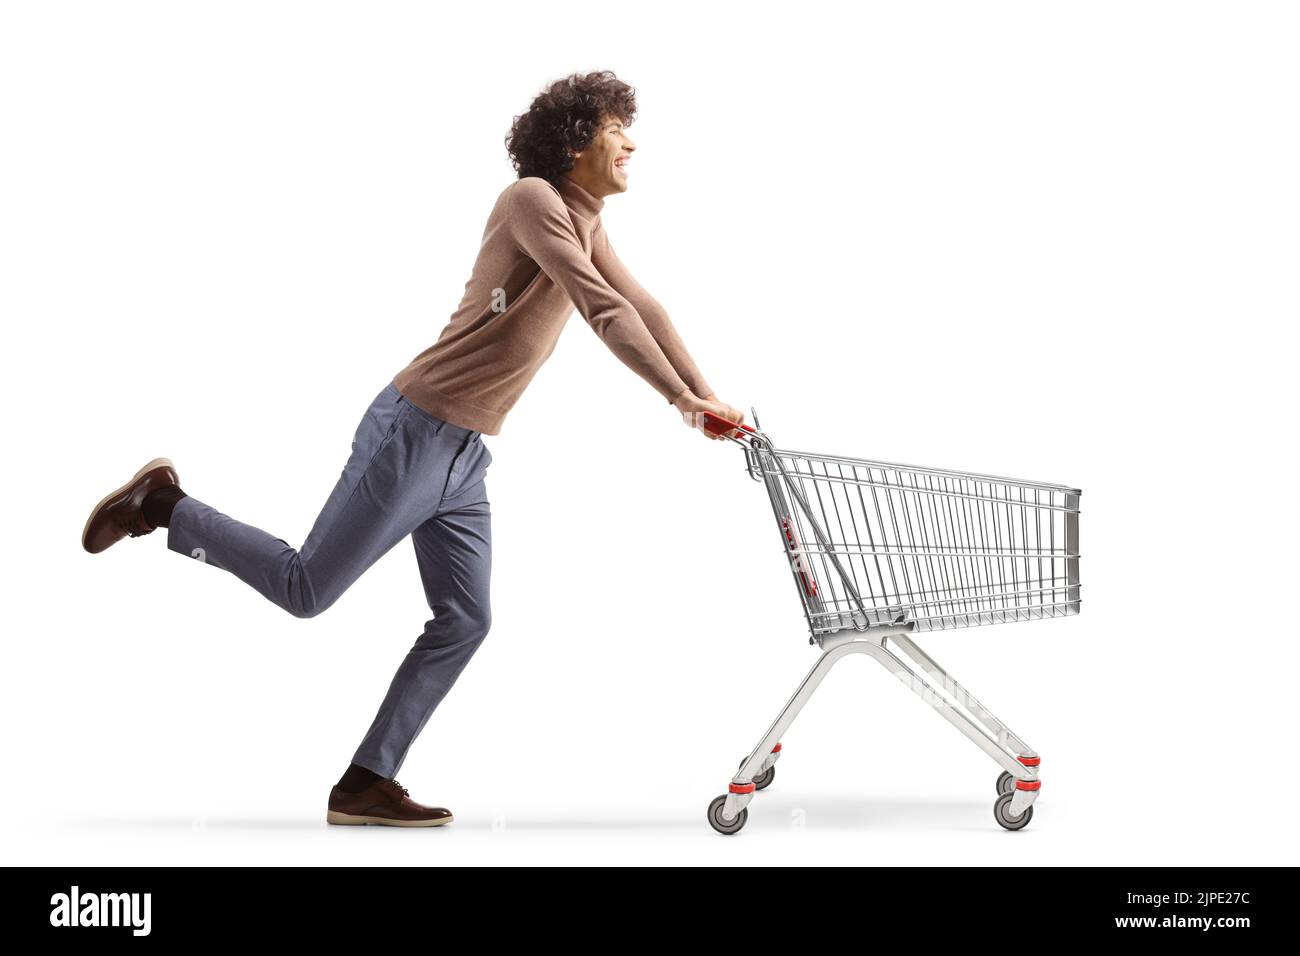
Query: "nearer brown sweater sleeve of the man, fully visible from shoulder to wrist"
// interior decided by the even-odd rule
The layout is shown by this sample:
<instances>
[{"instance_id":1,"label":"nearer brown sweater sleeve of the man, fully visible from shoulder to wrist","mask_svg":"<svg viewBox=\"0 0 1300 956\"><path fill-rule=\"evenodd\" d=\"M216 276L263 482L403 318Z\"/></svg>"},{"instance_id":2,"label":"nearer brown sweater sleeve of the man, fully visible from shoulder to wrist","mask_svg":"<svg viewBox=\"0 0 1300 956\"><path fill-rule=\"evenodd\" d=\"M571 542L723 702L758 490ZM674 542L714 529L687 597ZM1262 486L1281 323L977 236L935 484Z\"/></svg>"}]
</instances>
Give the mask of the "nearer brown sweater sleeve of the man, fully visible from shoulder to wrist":
<instances>
[{"instance_id":1,"label":"nearer brown sweater sleeve of the man, fully visible from shoulder to wrist","mask_svg":"<svg viewBox=\"0 0 1300 956\"><path fill-rule=\"evenodd\" d=\"M511 186L506 220L519 248L537 263L623 364L668 399L690 386L673 368L637 310L604 280L578 242L568 207L545 179Z\"/></svg>"}]
</instances>

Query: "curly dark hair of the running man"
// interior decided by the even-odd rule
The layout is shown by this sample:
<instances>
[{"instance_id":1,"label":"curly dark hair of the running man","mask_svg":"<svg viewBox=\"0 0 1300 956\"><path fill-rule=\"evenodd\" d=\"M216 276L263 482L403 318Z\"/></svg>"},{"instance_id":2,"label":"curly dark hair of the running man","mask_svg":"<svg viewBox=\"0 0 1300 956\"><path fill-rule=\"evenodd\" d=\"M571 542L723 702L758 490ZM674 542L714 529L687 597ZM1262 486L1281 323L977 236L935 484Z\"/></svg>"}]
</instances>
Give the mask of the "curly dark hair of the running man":
<instances>
[{"instance_id":1,"label":"curly dark hair of the running man","mask_svg":"<svg viewBox=\"0 0 1300 956\"><path fill-rule=\"evenodd\" d=\"M592 144L603 116L630 126L637 116L637 94L612 70L573 73L542 90L526 113L515 117L506 137L511 165L525 176L540 176L552 186L573 168L569 151Z\"/></svg>"}]
</instances>

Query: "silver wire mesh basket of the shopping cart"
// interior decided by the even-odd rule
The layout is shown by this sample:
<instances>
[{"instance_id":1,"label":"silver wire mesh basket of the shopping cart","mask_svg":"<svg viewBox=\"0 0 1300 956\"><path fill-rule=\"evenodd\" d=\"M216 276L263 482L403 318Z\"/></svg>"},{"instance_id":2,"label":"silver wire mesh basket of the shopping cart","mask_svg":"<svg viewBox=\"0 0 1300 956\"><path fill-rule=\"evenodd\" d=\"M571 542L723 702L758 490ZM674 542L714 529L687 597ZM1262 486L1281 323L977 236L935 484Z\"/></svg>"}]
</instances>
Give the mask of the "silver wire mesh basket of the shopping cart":
<instances>
[{"instance_id":1,"label":"silver wire mesh basket of the shopping cart","mask_svg":"<svg viewBox=\"0 0 1300 956\"><path fill-rule=\"evenodd\" d=\"M814 637L1078 614L1076 488L746 445Z\"/></svg>"}]
</instances>

